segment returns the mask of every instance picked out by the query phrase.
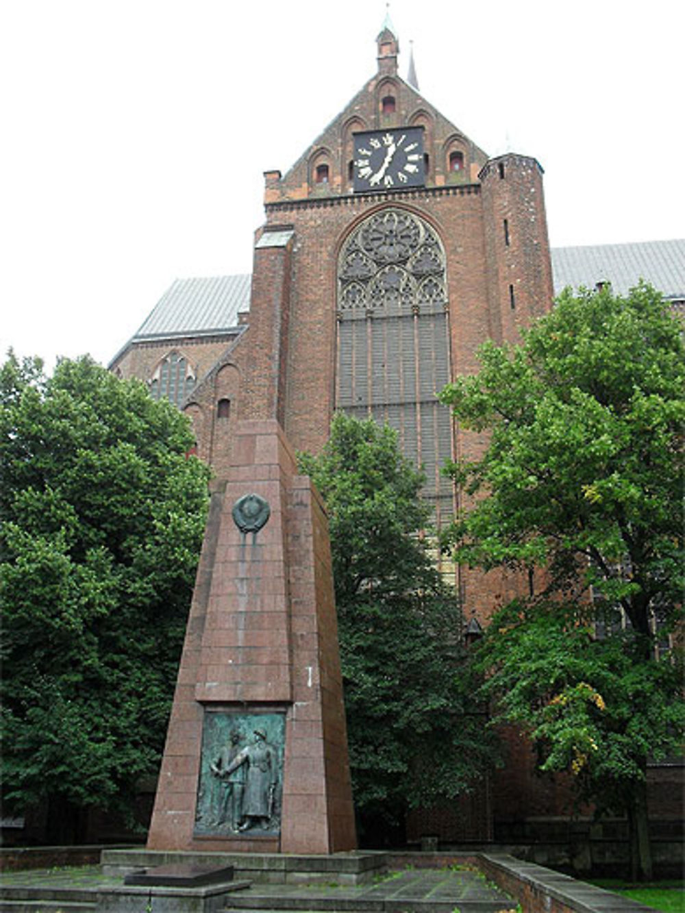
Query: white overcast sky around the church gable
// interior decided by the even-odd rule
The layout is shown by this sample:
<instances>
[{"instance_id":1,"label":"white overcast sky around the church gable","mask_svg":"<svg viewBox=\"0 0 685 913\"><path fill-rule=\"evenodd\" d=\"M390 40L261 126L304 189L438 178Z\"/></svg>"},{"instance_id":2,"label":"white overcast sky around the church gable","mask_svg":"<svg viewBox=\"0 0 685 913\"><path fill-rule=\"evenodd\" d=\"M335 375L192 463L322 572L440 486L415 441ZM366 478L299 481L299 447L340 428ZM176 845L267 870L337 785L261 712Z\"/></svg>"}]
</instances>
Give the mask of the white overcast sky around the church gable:
<instances>
[{"instance_id":1,"label":"white overcast sky around the church gable","mask_svg":"<svg viewBox=\"0 0 685 913\"><path fill-rule=\"evenodd\" d=\"M553 247L685 236L680 0L392 0L406 77L545 170ZM0 0L0 354L107 363L174 278L251 269L373 76L383 0Z\"/></svg>"}]
</instances>

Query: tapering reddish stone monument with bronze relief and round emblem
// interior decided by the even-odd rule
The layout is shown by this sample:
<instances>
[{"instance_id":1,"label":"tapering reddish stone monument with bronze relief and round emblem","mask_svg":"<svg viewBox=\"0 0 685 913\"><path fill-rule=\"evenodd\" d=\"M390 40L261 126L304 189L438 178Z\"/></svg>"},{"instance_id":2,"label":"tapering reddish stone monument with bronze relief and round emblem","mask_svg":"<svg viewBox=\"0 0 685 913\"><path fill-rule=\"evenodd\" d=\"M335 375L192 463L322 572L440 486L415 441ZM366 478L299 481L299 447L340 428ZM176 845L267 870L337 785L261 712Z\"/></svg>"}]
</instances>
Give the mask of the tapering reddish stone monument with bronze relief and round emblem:
<instances>
[{"instance_id":1,"label":"tapering reddish stone monument with bronze relief and round emblem","mask_svg":"<svg viewBox=\"0 0 685 913\"><path fill-rule=\"evenodd\" d=\"M214 483L150 850L356 845L328 527L275 418Z\"/></svg>"}]
</instances>

